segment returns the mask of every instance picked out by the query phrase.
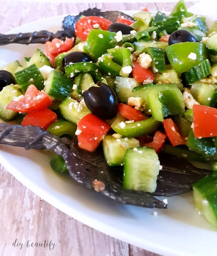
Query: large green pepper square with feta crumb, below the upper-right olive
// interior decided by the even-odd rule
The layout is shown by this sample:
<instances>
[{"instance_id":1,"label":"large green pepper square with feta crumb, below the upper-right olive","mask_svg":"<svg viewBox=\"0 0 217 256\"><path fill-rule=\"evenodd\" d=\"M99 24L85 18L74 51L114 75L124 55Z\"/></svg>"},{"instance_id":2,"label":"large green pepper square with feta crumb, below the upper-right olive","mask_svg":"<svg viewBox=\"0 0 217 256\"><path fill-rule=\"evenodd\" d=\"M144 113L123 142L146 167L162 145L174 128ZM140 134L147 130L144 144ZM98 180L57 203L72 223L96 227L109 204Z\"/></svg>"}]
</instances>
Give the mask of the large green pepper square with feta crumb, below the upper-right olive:
<instances>
[{"instance_id":1,"label":"large green pepper square with feta crumb, below the upper-right olive","mask_svg":"<svg viewBox=\"0 0 217 256\"><path fill-rule=\"evenodd\" d=\"M207 49L203 43L177 43L167 46L165 50L170 64L178 74L188 71L207 59ZM196 60L188 57L191 53L196 54Z\"/></svg>"}]
</instances>

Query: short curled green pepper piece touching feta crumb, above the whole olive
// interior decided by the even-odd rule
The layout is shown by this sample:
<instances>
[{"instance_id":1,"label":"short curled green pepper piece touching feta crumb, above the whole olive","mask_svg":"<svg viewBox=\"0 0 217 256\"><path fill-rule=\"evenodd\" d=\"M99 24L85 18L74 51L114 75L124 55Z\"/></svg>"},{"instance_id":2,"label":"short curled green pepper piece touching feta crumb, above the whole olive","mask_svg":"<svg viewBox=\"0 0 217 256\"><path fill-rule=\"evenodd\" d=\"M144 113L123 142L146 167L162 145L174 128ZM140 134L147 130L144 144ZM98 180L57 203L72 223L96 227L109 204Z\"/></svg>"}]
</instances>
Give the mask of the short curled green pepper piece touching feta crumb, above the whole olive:
<instances>
[{"instance_id":1,"label":"short curled green pepper piece touching feta crumb, above the whole olive","mask_svg":"<svg viewBox=\"0 0 217 256\"><path fill-rule=\"evenodd\" d=\"M110 56L111 57L111 56ZM108 55L104 54L101 57L101 60L98 62L100 68L104 71L105 74L110 76L115 76L120 73L121 66L112 61Z\"/></svg>"}]
</instances>

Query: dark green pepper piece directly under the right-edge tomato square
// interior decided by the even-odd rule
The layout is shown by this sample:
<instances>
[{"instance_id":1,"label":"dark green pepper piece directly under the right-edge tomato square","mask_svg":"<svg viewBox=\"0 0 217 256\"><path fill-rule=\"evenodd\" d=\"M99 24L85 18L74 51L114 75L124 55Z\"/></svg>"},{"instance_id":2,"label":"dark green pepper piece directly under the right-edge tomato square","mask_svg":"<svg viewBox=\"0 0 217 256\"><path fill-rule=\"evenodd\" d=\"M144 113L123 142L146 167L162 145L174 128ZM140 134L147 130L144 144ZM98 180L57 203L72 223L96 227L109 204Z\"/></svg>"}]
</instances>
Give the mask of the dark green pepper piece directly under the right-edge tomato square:
<instances>
[{"instance_id":1,"label":"dark green pepper piece directly under the right-edge tomato square","mask_svg":"<svg viewBox=\"0 0 217 256\"><path fill-rule=\"evenodd\" d=\"M207 160L216 152L216 147L211 138L196 139L192 130L188 134L186 145L190 150L203 155Z\"/></svg>"}]
</instances>

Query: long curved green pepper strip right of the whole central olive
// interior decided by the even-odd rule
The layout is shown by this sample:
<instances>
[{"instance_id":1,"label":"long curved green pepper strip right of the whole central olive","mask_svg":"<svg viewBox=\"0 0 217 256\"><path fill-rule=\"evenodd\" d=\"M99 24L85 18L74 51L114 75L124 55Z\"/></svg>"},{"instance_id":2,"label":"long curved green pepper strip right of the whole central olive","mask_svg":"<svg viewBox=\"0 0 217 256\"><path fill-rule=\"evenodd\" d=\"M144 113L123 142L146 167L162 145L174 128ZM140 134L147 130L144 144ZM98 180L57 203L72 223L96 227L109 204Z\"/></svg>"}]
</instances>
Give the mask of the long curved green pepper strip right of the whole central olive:
<instances>
[{"instance_id":1,"label":"long curved green pepper strip right of the whole central olive","mask_svg":"<svg viewBox=\"0 0 217 256\"><path fill-rule=\"evenodd\" d=\"M120 119L117 118L111 128L123 136L134 138L155 132L160 124L161 122L154 120L153 117L134 123L120 122Z\"/></svg>"}]
</instances>

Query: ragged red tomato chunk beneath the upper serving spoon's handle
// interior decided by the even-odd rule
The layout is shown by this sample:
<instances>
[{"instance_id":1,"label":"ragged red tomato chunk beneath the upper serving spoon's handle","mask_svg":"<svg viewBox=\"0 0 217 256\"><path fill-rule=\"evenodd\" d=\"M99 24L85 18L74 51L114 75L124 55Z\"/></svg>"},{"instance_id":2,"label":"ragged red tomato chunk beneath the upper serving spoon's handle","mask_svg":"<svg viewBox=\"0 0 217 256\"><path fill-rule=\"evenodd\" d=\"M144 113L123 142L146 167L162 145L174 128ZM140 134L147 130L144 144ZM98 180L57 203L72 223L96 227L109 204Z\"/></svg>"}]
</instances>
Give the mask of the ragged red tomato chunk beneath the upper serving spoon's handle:
<instances>
[{"instance_id":1,"label":"ragged red tomato chunk beneath the upper serving spoon's handle","mask_svg":"<svg viewBox=\"0 0 217 256\"><path fill-rule=\"evenodd\" d=\"M67 52L72 49L74 44L74 37L67 38L65 41L62 41L58 38L54 38L52 42L46 42L46 56L51 62L52 67L54 66L55 57L63 52Z\"/></svg>"}]
</instances>

